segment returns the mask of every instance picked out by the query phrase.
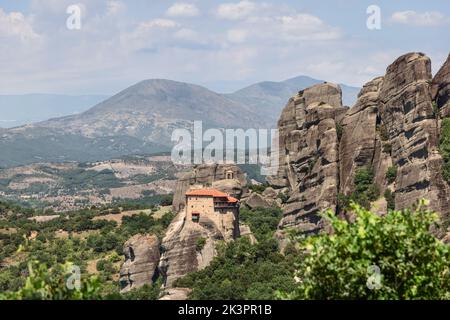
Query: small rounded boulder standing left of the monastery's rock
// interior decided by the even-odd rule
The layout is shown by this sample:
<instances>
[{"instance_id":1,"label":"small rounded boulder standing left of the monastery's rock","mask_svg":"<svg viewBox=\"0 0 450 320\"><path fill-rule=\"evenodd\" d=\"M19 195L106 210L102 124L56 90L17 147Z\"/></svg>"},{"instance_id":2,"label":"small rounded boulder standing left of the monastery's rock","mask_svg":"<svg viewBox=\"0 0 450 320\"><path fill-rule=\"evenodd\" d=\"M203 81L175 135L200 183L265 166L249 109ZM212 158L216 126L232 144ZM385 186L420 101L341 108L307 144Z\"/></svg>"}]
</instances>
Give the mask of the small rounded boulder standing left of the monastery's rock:
<instances>
[{"instance_id":1,"label":"small rounded boulder standing left of the monastery's rock","mask_svg":"<svg viewBox=\"0 0 450 320\"><path fill-rule=\"evenodd\" d=\"M152 284L158 275L159 240L155 235L135 235L123 246L125 263L120 269L120 292Z\"/></svg>"}]
</instances>

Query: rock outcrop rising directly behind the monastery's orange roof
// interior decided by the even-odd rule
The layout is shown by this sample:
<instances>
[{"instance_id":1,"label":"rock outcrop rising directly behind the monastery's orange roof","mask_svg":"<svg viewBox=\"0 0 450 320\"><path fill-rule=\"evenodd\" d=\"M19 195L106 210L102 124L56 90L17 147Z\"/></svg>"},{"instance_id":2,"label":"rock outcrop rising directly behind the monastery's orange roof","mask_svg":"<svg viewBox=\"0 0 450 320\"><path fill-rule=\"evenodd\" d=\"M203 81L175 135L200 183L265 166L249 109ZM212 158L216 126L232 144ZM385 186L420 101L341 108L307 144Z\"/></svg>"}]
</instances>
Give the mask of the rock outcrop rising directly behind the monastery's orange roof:
<instances>
[{"instance_id":1,"label":"rock outcrop rising directly behind the monastery's orange roof","mask_svg":"<svg viewBox=\"0 0 450 320\"><path fill-rule=\"evenodd\" d=\"M220 191L240 198L246 183L245 173L234 164L195 166L178 179L173 199L173 210L179 212L184 209L185 193L193 185L213 186Z\"/></svg>"}]
</instances>

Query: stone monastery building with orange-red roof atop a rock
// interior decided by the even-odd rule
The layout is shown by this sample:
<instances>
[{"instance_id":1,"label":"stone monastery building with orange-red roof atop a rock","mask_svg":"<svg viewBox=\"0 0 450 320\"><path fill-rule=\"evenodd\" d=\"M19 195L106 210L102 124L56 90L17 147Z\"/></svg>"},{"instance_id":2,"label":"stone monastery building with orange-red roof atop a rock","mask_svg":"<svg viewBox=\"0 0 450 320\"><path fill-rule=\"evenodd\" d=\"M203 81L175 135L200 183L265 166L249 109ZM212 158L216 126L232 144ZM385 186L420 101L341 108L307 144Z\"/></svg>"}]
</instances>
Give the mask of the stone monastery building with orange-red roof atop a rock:
<instances>
[{"instance_id":1,"label":"stone monastery building with orange-red roof atop a rock","mask_svg":"<svg viewBox=\"0 0 450 320\"><path fill-rule=\"evenodd\" d=\"M225 240L239 236L239 200L215 189L186 192L186 219L215 226Z\"/></svg>"}]
</instances>

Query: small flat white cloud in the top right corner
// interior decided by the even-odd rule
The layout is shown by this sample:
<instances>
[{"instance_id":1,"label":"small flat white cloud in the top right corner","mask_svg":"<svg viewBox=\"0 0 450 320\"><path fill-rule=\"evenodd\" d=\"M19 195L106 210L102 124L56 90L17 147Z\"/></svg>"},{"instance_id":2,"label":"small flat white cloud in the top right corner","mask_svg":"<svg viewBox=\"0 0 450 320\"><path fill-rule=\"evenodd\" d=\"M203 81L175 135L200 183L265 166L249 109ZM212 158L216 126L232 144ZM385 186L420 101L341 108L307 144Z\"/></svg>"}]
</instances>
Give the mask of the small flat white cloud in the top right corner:
<instances>
[{"instance_id":1,"label":"small flat white cloud in the top right corner","mask_svg":"<svg viewBox=\"0 0 450 320\"><path fill-rule=\"evenodd\" d=\"M392 14L391 22L418 27L436 27L450 23L450 19L436 11L401 11Z\"/></svg>"}]
</instances>

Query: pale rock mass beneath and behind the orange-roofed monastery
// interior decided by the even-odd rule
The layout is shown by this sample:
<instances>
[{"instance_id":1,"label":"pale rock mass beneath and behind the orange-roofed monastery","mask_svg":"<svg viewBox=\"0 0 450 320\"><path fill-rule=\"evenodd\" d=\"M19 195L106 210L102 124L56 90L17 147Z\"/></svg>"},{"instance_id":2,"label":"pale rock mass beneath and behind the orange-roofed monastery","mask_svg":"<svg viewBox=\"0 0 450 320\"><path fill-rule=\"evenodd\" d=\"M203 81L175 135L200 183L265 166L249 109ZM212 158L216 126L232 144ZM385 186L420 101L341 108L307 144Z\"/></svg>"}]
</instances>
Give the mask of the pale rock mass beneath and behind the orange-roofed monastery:
<instances>
[{"instance_id":1,"label":"pale rock mass beneath and behind the orange-roofed monastery","mask_svg":"<svg viewBox=\"0 0 450 320\"><path fill-rule=\"evenodd\" d=\"M178 212L162 241L159 268L165 286L171 287L176 279L201 270L216 255L215 244L239 236L239 224L224 220L228 225L218 228L211 221L193 223L186 219L185 194L190 189L215 188L240 198L246 184L245 174L236 165L200 165L183 175L177 182L174 210ZM222 232L221 230L231 230ZM199 246L200 242L204 242Z\"/></svg>"}]
</instances>

